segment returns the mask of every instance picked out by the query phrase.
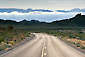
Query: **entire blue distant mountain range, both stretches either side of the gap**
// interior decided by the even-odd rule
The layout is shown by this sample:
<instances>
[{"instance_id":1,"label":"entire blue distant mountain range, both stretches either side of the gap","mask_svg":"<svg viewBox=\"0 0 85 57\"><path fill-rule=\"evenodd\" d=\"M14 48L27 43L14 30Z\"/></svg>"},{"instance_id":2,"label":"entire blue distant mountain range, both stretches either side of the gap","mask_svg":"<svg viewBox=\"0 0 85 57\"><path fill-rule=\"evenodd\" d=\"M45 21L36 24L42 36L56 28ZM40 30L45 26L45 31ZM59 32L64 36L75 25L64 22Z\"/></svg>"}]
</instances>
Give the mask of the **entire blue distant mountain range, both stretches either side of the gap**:
<instances>
[{"instance_id":1,"label":"entire blue distant mountain range, both stretches either side of the gap","mask_svg":"<svg viewBox=\"0 0 85 57\"><path fill-rule=\"evenodd\" d=\"M45 10L45 9L16 9L16 8L0 8L0 12L7 12L7 13L11 13L11 12L21 12L21 13L29 13L29 12L34 12L34 11L38 11L38 12L53 12L52 10ZM68 13L68 12L85 12L85 9L79 9L79 8L74 8L71 10L56 10L57 12L64 12L64 13Z\"/></svg>"}]
</instances>

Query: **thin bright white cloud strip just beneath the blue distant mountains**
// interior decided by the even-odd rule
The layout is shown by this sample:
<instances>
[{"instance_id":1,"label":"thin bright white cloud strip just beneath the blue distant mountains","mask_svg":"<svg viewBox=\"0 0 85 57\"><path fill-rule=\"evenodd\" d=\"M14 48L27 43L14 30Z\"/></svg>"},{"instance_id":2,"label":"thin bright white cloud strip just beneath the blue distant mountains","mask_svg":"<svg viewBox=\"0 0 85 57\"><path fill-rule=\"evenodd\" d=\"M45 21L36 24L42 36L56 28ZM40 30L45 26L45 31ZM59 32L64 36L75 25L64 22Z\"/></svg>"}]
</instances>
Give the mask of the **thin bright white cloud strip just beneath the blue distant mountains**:
<instances>
[{"instance_id":1,"label":"thin bright white cloud strip just beneath the blue distant mountains","mask_svg":"<svg viewBox=\"0 0 85 57\"><path fill-rule=\"evenodd\" d=\"M21 13L17 11L13 11L11 13L3 12L0 13L0 15L41 15L41 14L64 14L63 12L40 12L40 11L34 11L29 13Z\"/></svg>"}]
</instances>

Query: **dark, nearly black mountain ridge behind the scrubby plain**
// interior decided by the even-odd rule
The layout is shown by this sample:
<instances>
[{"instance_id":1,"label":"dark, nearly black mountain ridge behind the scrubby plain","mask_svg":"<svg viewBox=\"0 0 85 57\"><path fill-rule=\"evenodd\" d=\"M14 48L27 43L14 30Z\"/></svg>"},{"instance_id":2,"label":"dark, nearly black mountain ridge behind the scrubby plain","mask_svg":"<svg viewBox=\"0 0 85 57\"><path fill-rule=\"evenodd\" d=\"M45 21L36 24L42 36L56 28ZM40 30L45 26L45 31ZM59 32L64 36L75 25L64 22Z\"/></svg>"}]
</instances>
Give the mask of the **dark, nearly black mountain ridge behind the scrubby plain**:
<instances>
[{"instance_id":1,"label":"dark, nearly black mountain ridge behind the scrubby plain","mask_svg":"<svg viewBox=\"0 0 85 57\"><path fill-rule=\"evenodd\" d=\"M0 27L13 26L18 29L57 29L58 27L85 27L85 15L77 14L75 17L70 19L64 19L60 21L53 21L51 23L40 22L38 20L22 20L16 22L13 20L2 20L0 19ZM22 28L21 28L22 27Z\"/></svg>"}]
</instances>

